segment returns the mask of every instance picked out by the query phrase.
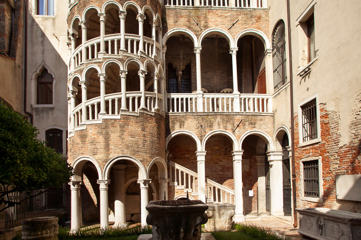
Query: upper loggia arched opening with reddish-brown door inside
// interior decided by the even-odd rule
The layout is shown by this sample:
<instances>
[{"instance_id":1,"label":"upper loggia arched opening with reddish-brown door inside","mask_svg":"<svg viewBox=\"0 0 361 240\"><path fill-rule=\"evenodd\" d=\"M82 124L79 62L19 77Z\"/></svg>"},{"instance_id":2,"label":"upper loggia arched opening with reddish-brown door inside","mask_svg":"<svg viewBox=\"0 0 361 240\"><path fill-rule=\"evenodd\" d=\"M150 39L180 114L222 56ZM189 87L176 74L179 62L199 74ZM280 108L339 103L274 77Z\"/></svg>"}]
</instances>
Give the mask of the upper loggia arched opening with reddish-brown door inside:
<instances>
[{"instance_id":1,"label":"upper loggia arched opening with reddish-brown door inside","mask_svg":"<svg viewBox=\"0 0 361 240\"><path fill-rule=\"evenodd\" d=\"M240 93L266 94L265 47L256 36L237 42L237 79Z\"/></svg>"}]
</instances>

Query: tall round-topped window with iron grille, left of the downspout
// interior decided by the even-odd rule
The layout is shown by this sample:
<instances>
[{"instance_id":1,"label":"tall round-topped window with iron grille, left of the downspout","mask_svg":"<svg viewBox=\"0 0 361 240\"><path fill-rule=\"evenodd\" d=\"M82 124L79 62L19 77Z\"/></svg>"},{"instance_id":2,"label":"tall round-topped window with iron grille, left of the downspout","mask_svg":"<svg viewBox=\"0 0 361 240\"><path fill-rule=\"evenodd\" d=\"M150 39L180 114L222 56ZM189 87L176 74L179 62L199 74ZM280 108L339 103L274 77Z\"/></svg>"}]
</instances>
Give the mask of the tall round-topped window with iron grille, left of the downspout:
<instances>
[{"instance_id":1,"label":"tall round-topped window with iron grille, left of the downspout","mask_svg":"<svg viewBox=\"0 0 361 240\"><path fill-rule=\"evenodd\" d=\"M286 29L284 22L278 22L272 35L273 80L276 91L286 83Z\"/></svg>"}]
</instances>

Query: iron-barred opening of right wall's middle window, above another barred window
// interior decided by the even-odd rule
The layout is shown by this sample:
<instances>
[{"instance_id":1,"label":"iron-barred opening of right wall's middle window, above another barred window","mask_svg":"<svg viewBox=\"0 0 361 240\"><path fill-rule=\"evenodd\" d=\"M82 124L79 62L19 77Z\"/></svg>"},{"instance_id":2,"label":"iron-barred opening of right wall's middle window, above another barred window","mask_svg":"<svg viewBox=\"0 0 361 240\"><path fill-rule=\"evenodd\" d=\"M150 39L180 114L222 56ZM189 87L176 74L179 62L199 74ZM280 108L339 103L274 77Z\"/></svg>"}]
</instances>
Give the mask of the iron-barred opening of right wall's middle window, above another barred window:
<instances>
[{"instance_id":1,"label":"iron-barred opening of right wall's middle window, above another barred window","mask_svg":"<svg viewBox=\"0 0 361 240\"><path fill-rule=\"evenodd\" d=\"M303 142L316 139L317 134L317 108L316 99L301 106L302 110L302 139Z\"/></svg>"}]
</instances>

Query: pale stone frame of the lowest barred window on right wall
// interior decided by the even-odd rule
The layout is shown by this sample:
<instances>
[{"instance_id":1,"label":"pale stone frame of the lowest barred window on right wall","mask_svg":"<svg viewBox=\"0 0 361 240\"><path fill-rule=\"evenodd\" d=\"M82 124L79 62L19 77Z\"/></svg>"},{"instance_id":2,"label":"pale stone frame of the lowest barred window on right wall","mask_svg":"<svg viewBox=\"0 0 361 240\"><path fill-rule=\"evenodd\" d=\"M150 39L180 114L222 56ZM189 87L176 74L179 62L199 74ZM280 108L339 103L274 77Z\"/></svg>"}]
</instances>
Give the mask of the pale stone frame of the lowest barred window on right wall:
<instances>
[{"instance_id":1,"label":"pale stone frame of the lowest barred window on right wall","mask_svg":"<svg viewBox=\"0 0 361 240\"><path fill-rule=\"evenodd\" d=\"M304 186L304 163L310 161L318 161L318 198L305 196L305 186ZM300 185L301 185L301 197L300 200L303 201L312 201L316 203L323 203L323 178L322 178L322 158L321 157L310 157L300 159Z\"/></svg>"}]
</instances>

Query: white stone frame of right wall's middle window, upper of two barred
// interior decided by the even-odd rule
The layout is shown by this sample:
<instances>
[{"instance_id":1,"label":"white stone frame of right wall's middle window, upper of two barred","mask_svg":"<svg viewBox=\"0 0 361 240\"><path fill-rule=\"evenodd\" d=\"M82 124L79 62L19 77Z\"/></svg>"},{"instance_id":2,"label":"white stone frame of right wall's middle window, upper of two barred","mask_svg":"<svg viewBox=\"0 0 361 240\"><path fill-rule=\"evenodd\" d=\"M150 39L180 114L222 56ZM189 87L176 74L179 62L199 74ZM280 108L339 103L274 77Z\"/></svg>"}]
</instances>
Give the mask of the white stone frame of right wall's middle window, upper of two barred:
<instances>
[{"instance_id":1,"label":"white stone frame of right wall's middle window, upper of two barred","mask_svg":"<svg viewBox=\"0 0 361 240\"><path fill-rule=\"evenodd\" d=\"M302 123L302 107L308 104L310 101L316 100L316 124L317 124L317 138L304 141L303 140L303 123ZM298 105L298 134L299 134L299 146L306 146L310 144L315 144L321 142L321 124L320 124L320 117L319 117L319 102L318 102L318 93L313 95L312 97L304 100Z\"/></svg>"}]
</instances>

